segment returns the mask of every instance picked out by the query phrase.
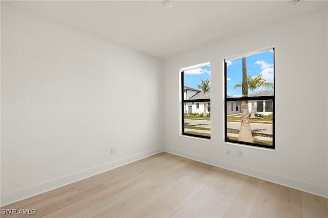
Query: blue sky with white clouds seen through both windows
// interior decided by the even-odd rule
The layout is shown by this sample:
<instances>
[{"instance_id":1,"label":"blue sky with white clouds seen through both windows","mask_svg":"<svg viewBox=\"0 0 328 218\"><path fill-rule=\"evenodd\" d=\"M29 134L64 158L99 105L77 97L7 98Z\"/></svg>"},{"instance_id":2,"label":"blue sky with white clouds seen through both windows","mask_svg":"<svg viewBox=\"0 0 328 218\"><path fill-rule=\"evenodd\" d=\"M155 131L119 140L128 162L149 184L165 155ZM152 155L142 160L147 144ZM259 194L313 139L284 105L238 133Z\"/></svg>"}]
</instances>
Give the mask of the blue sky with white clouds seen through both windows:
<instances>
[{"instance_id":1,"label":"blue sky with white clouds seen through both windows","mask_svg":"<svg viewBox=\"0 0 328 218\"><path fill-rule=\"evenodd\" d=\"M273 52L265 51L252 56L246 57L246 67L248 76L256 76L262 74L262 77L268 82L273 83ZM224 73L224 72L223 72ZM209 79L211 81L211 67L204 66L201 68L185 71L183 74L186 86L198 89L197 84L201 80ZM241 97L241 89L234 90L235 84L242 82L242 64L241 58L230 59L227 62L227 95L232 97ZM210 83L211 84L211 83ZM221 84L220 84L221 85ZM222 84L223 85L223 84ZM261 90L269 90L269 88L261 88ZM250 90L249 90L250 93Z\"/></svg>"}]
</instances>

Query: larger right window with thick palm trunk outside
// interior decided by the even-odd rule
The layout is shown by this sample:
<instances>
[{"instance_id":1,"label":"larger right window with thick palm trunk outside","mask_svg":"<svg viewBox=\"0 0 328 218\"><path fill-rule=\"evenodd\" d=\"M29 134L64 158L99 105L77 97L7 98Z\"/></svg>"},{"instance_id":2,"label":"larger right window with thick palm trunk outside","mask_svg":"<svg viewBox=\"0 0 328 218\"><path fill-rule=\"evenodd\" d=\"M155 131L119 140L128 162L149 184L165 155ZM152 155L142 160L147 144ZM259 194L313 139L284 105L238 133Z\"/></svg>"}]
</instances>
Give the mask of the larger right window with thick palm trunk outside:
<instances>
[{"instance_id":1,"label":"larger right window with thick palm trunk outside","mask_svg":"<svg viewBox=\"0 0 328 218\"><path fill-rule=\"evenodd\" d=\"M224 141L275 148L274 73L273 48L224 60Z\"/></svg>"}]
</instances>

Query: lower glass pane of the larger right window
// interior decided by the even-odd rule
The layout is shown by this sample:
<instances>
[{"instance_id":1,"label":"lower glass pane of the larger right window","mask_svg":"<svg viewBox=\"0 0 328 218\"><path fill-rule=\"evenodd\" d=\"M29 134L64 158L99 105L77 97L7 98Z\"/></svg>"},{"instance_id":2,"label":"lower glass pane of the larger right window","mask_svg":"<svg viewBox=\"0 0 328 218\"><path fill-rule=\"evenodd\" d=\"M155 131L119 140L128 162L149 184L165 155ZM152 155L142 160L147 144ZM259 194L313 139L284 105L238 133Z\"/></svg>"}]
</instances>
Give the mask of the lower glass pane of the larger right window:
<instances>
[{"instance_id":1,"label":"lower glass pane of the larger right window","mask_svg":"<svg viewBox=\"0 0 328 218\"><path fill-rule=\"evenodd\" d=\"M265 102L272 103L272 100ZM257 105L258 105L257 101ZM228 102L227 105L230 105ZM273 145L273 114L272 112L255 113L252 118L248 113L252 105L252 101L234 101L240 103L240 113L227 113L227 141L249 142L258 145L272 146ZM263 103L263 101L262 101ZM230 108L230 106L229 106ZM246 110L244 116L242 111ZM243 119L242 119L243 118Z\"/></svg>"}]
</instances>

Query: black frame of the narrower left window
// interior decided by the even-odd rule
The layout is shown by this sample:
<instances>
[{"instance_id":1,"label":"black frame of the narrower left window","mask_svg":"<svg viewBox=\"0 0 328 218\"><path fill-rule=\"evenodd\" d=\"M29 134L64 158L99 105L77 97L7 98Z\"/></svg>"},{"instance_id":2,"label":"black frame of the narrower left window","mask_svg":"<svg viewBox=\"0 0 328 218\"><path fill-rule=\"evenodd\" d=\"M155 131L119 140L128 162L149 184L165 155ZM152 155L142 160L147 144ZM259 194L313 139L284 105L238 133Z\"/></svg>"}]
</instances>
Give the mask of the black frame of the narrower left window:
<instances>
[{"instance_id":1,"label":"black frame of the narrower left window","mask_svg":"<svg viewBox=\"0 0 328 218\"><path fill-rule=\"evenodd\" d=\"M206 65L204 65L206 66ZM201 68L200 66L199 68ZM211 102L211 98L208 99L197 99L197 100L185 100L185 95L184 95L184 87L185 87L185 81L184 81L184 72L186 70L181 71L181 135L182 136L191 136L191 137L196 137L196 138L204 138L204 139L211 139L211 136L201 136L201 135L195 135L195 134L189 134L185 133L185 103L192 103L192 102Z\"/></svg>"}]
</instances>

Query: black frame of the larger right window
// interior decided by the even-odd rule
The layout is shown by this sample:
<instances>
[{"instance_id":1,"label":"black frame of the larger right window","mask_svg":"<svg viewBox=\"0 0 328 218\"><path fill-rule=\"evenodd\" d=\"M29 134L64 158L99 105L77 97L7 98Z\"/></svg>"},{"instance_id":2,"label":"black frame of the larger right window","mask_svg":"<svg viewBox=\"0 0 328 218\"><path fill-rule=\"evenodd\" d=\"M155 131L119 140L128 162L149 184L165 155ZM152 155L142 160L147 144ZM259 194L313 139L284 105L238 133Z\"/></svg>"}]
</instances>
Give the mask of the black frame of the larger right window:
<instances>
[{"instance_id":1,"label":"black frame of the larger right window","mask_svg":"<svg viewBox=\"0 0 328 218\"><path fill-rule=\"evenodd\" d=\"M248 57L248 56L252 56L255 54L259 54L261 52L265 52L268 50L272 50L273 51L273 95L272 96L248 96L248 97L237 97L237 98L227 98L227 62L229 59L238 59L238 58L242 58L242 57ZM275 49L274 47L268 48L268 49L262 49L262 50L258 50L255 52L251 52L251 53L246 53L244 55L239 55L239 56L235 56L232 58L226 58L223 60L224 63L224 143L236 143L238 145L249 145L252 147L262 147L262 148L269 148L269 149L275 149L276 145L275 145ZM227 105L229 102L231 101L257 101L257 100L263 100L267 101L267 100L272 100L272 115L273 115L273 119L272 119L272 146L269 145L262 145L262 144L256 144L256 143L250 143L250 142L243 142L243 141L236 141L236 140L230 140L228 139L228 131L227 131L227 126L228 126L228 119L227 119ZM264 111L264 107L263 107L263 111Z\"/></svg>"}]
</instances>

